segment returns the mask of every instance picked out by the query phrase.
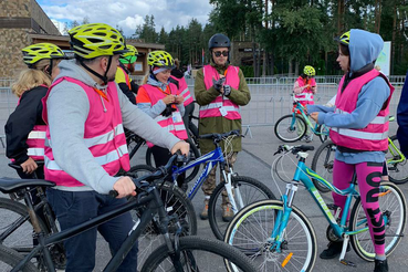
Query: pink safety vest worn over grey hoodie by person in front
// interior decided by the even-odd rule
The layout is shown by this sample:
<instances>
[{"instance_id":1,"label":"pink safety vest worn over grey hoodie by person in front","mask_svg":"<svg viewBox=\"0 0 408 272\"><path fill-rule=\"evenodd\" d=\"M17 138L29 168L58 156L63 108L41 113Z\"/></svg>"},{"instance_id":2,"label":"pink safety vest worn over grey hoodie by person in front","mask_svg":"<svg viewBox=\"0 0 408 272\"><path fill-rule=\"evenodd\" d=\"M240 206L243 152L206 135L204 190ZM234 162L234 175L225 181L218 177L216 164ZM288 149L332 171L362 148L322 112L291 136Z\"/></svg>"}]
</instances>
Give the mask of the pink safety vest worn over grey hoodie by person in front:
<instances>
[{"instance_id":1,"label":"pink safety vest worn over grey hoodie by person in front","mask_svg":"<svg viewBox=\"0 0 408 272\"><path fill-rule=\"evenodd\" d=\"M121 168L125 171L130 169L129 155L127 151L126 137L122 125L122 112L117 95L116 84L109 82L106 90L107 100L103 98L92 86L85 85L71 77L61 77L52 84L43 103L43 119L48 123L46 100L51 90L62 81L80 85L90 101L90 113L85 121L84 143L95 157L95 160L106 170L109 176L116 175ZM103 100L103 103L102 101ZM52 147L49 143L50 129L46 129L44 174L45 179L54 181L57 186L80 187L84 186L54 160Z\"/></svg>"}]
</instances>

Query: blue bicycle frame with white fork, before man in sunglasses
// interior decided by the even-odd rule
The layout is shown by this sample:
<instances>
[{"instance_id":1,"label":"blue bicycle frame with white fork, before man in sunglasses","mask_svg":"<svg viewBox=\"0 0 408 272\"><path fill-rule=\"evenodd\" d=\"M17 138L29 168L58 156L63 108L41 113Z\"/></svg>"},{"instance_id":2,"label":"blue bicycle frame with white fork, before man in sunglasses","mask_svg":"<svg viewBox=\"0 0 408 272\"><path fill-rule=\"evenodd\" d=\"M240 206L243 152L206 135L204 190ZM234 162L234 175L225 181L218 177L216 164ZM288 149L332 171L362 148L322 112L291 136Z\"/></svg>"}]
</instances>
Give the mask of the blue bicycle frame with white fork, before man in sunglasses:
<instances>
[{"instance_id":1,"label":"blue bicycle frame with white fork, before man in sunglasses","mask_svg":"<svg viewBox=\"0 0 408 272\"><path fill-rule=\"evenodd\" d=\"M206 155L202 155L201 157L190 161L189 164L177 167L174 166L172 168L172 180L177 179L177 176L187 171L188 169L200 165L200 164L207 164L205 169L201 171L200 176L197 178L195 185L190 189L190 191L187 193L188 199L192 200L192 198L198 192L198 189L201 187L203 181L207 179L208 175L210 174L211 169L219 164L221 166L221 171L223 174L223 178L226 180L226 189L229 197L229 200L231 202L231 209L234 213L238 212L237 203L234 198L232 197L232 186L231 186L231 176L232 176L232 169L230 169L230 172L226 174L223 170L223 166L226 165L226 158L223 157L221 147L217 146L217 148ZM242 198L240 197L239 190L236 190L236 195L238 195L238 199L240 200L240 206L243 207Z\"/></svg>"}]
</instances>

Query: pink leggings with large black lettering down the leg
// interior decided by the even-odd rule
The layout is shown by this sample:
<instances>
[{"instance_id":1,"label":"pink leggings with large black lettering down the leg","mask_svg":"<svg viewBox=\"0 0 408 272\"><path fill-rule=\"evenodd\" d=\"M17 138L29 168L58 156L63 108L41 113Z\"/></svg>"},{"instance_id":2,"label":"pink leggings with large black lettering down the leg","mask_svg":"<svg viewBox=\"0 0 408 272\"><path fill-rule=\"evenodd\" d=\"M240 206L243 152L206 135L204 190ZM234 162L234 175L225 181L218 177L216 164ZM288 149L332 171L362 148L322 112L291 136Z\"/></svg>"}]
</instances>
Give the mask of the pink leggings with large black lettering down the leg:
<instances>
[{"instance_id":1,"label":"pink leggings with large black lettering down the leg","mask_svg":"<svg viewBox=\"0 0 408 272\"><path fill-rule=\"evenodd\" d=\"M378 192L381 180L383 163L362 163L348 165L334 160L333 185L343 190L349 186L353 174L356 171L362 205L368 218L369 233L374 242L376 254L385 253L385 226L383 215L379 210ZM334 203L344 207L345 196L332 193ZM348 220L348 218L347 218Z\"/></svg>"}]
</instances>

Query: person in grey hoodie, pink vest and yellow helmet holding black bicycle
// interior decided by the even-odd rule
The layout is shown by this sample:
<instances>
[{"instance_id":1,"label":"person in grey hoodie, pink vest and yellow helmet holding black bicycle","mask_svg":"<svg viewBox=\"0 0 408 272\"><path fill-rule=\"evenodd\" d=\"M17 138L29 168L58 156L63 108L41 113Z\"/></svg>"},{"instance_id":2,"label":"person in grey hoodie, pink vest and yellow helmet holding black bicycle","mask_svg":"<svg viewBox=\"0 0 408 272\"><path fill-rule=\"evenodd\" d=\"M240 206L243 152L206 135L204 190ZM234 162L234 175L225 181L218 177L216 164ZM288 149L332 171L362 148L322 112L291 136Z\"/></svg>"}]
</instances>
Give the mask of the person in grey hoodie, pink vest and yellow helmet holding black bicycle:
<instances>
[{"instance_id":1,"label":"person in grey hoodie, pink vest and yellow helmet holding black bicycle","mask_svg":"<svg viewBox=\"0 0 408 272\"><path fill-rule=\"evenodd\" d=\"M136 195L124 126L158 146L188 154L189 146L165 132L132 104L115 83L126 44L119 31L105 23L88 23L69 31L75 60L60 65L43 100L48 123L44 148L45 179L56 184L48 200L61 230L108 212ZM108 197L116 190L116 198ZM66 271L94 271L100 232L115 254L134 227L129 212L64 241ZM138 245L124 255L116 271L137 270Z\"/></svg>"}]
</instances>

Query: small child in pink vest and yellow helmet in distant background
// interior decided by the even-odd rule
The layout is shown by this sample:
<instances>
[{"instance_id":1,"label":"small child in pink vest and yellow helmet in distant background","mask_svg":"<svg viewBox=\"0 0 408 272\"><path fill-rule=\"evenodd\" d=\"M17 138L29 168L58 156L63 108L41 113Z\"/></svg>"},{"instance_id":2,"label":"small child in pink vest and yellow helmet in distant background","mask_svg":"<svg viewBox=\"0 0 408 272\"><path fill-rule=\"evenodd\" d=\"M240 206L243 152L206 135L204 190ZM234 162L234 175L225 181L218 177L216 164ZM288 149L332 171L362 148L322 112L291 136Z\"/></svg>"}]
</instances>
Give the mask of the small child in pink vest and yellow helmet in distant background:
<instances>
[{"instance_id":1,"label":"small child in pink vest and yellow helmet in distant background","mask_svg":"<svg viewBox=\"0 0 408 272\"><path fill-rule=\"evenodd\" d=\"M316 81L314 80L314 76L316 74L316 71L313 66L306 65L303 69L303 73L297 77L293 85L293 93L294 97L304 106L306 105L313 105L313 95L317 92L317 85ZM297 121L296 121L297 123ZM300 124L297 124L300 125ZM305 134L305 142L310 143L312 140L311 138L311 128L308 127Z\"/></svg>"}]
</instances>

